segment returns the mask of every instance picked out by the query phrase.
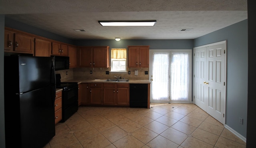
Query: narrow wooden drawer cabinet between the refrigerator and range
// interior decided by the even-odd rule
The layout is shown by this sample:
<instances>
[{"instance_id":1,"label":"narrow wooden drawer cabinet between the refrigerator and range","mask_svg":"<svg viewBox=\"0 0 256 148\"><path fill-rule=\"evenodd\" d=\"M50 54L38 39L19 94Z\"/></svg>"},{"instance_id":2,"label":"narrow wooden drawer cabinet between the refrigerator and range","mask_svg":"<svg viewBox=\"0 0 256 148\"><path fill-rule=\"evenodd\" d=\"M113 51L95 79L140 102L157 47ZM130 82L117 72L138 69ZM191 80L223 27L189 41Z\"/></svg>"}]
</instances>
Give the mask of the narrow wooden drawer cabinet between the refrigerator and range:
<instances>
[{"instance_id":1,"label":"narrow wooden drawer cabinet between the refrigerator and range","mask_svg":"<svg viewBox=\"0 0 256 148\"><path fill-rule=\"evenodd\" d=\"M55 124L62 120L62 91L56 93L54 101Z\"/></svg>"}]
</instances>

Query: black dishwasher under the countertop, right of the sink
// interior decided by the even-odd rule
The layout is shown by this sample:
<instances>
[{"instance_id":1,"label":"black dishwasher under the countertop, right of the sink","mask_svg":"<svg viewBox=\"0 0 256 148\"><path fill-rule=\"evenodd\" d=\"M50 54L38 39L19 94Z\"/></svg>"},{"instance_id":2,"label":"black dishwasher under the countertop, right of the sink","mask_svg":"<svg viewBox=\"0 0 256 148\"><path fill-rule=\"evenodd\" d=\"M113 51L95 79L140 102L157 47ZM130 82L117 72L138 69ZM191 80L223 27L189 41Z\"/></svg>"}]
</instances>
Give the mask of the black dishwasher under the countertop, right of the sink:
<instances>
[{"instance_id":1,"label":"black dishwasher under the countertop, right of the sink","mask_svg":"<svg viewBox=\"0 0 256 148\"><path fill-rule=\"evenodd\" d=\"M148 108L148 84L130 84L130 107Z\"/></svg>"}]
</instances>

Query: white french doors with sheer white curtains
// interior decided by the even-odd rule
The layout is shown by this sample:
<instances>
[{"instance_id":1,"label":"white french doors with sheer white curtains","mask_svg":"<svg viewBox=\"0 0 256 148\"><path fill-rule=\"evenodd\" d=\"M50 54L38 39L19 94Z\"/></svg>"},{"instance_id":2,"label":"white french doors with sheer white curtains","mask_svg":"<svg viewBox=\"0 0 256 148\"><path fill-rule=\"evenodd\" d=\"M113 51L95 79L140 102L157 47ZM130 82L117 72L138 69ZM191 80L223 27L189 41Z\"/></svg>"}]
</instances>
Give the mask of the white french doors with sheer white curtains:
<instances>
[{"instance_id":1,"label":"white french doors with sheer white curtains","mask_svg":"<svg viewBox=\"0 0 256 148\"><path fill-rule=\"evenodd\" d=\"M191 103L192 50L150 50L150 102Z\"/></svg>"}]
</instances>

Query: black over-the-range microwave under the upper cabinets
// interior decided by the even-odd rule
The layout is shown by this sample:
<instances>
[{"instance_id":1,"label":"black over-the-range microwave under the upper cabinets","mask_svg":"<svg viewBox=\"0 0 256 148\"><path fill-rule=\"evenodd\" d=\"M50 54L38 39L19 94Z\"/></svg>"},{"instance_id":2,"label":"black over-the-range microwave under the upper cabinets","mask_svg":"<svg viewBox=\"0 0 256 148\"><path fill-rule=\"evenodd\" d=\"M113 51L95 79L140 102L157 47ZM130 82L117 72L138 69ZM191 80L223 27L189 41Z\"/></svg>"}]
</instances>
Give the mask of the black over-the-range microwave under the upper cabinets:
<instances>
[{"instance_id":1,"label":"black over-the-range microwave under the upper cabinets","mask_svg":"<svg viewBox=\"0 0 256 148\"><path fill-rule=\"evenodd\" d=\"M55 71L69 69L69 57L51 56L54 57Z\"/></svg>"}]
</instances>

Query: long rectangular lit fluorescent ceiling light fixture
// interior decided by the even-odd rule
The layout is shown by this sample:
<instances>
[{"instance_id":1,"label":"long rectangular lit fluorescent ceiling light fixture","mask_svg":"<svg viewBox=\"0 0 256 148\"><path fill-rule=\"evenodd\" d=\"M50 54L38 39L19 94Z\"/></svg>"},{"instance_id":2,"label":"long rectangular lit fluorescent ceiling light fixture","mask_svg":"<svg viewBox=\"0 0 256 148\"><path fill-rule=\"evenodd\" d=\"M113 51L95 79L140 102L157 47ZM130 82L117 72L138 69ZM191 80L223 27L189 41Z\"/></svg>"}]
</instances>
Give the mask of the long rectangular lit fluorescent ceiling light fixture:
<instances>
[{"instance_id":1,"label":"long rectangular lit fluorescent ceiling light fixture","mask_svg":"<svg viewBox=\"0 0 256 148\"><path fill-rule=\"evenodd\" d=\"M154 26L156 20L149 21L98 21L102 26Z\"/></svg>"}]
</instances>

